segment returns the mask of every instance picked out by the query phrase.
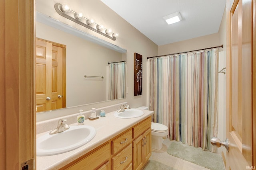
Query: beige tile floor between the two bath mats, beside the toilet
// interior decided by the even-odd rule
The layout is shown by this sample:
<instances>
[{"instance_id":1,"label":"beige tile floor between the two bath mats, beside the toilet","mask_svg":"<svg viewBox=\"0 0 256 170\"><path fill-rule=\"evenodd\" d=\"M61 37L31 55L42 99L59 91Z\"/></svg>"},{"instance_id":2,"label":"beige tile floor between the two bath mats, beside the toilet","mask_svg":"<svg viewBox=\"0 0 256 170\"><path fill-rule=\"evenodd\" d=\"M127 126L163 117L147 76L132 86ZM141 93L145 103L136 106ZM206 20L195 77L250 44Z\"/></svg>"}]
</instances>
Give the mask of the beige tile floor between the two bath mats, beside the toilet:
<instances>
[{"instance_id":1,"label":"beige tile floor between the two bath mats, beside the toilet","mask_svg":"<svg viewBox=\"0 0 256 170\"><path fill-rule=\"evenodd\" d=\"M158 162L171 166L172 168L175 168L177 170L209 170L208 168L204 168L197 164L193 164L191 162L168 154L166 150L168 149L172 141L170 141L169 139L164 139L163 143L164 145L161 150L152 149L152 155L149 158L150 160L157 160Z\"/></svg>"}]
</instances>

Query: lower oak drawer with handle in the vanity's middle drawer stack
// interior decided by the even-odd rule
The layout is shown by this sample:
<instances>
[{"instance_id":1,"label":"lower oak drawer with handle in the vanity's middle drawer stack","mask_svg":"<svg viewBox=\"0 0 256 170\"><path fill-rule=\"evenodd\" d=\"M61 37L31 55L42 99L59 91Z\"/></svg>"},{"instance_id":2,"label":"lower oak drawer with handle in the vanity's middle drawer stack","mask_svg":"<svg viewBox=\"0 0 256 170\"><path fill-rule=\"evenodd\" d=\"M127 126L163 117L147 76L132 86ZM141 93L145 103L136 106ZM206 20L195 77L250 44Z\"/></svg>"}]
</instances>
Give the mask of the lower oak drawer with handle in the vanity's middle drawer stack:
<instances>
[{"instance_id":1,"label":"lower oak drawer with handle in the vanity's middle drawer stack","mask_svg":"<svg viewBox=\"0 0 256 170\"><path fill-rule=\"evenodd\" d=\"M114 170L123 170L132 162L132 144L128 145L120 153L112 158Z\"/></svg>"}]
</instances>

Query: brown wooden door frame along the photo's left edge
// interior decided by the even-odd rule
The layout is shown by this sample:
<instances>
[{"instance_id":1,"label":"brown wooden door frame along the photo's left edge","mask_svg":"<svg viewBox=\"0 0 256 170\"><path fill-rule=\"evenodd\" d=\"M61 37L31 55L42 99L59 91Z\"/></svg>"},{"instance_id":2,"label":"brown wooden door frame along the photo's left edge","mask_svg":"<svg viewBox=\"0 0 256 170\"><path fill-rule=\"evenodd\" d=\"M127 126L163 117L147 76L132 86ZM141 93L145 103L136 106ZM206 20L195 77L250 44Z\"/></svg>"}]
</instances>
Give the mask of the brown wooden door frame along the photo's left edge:
<instances>
[{"instance_id":1,"label":"brown wooden door frame along the photo's left edge","mask_svg":"<svg viewBox=\"0 0 256 170\"><path fill-rule=\"evenodd\" d=\"M0 11L0 162L3 169L18 170L32 160L31 170L36 162L35 0L3 0Z\"/></svg>"}]
</instances>

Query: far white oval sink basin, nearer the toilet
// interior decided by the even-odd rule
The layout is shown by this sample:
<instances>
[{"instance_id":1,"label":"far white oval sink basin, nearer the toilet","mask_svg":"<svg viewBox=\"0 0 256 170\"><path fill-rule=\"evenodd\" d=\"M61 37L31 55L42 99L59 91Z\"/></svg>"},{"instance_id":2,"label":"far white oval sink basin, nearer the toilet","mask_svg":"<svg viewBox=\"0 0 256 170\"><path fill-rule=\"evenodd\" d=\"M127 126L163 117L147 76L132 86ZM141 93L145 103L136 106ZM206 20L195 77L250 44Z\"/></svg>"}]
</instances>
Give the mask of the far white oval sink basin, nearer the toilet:
<instances>
[{"instance_id":1,"label":"far white oval sink basin, nearer the toilet","mask_svg":"<svg viewBox=\"0 0 256 170\"><path fill-rule=\"evenodd\" d=\"M122 112L115 112L114 116L123 119L135 118L144 115L144 112L140 109L124 109Z\"/></svg>"}]
</instances>

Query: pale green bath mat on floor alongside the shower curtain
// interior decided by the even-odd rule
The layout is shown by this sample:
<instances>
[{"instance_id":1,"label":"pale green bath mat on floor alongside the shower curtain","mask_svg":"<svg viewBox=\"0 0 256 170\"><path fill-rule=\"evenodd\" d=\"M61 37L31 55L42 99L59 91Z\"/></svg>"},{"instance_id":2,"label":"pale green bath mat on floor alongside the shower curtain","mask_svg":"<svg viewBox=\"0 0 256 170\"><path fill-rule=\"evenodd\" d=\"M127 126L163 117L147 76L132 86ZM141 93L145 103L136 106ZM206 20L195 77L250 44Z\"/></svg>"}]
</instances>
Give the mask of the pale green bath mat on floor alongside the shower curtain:
<instances>
[{"instance_id":1,"label":"pale green bath mat on floor alongside the shower curtain","mask_svg":"<svg viewBox=\"0 0 256 170\"><path fill-rule=\"evenodd\" d=\"M222 157L219 154L208 150L204 151L202 148L189 146L182 142L172 141L167 153L210 170L225 170Z\"/></svg>"}]
</instances>

